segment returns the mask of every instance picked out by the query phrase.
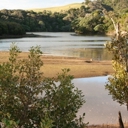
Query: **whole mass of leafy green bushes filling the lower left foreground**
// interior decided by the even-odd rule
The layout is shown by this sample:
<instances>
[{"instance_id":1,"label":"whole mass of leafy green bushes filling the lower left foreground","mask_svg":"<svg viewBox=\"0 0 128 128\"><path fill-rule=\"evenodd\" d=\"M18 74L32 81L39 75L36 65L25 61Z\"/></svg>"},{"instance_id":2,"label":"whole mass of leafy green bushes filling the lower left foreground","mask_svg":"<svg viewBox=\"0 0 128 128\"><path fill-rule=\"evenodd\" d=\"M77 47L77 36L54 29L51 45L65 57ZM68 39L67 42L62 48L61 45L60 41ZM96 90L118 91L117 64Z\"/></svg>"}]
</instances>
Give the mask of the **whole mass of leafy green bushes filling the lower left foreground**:
<instances>
[{"instance_id":1,"label":"whole mass of leafy green bushes filling the lower left foreground","mask_svg":"<svg viewBox=\"0 0 128 128\"><path fill-rule=\"evenodd\" d=\"M29 50L27 59L19 59L20 52L13 44L9 61L0 64L0 122L4 127L83 128L83 117L77 119L76 113L85 100L71 82L69 70L58 75L58 84L40 71L43 62L38 46Z\"/></svg>"}]
</instances>

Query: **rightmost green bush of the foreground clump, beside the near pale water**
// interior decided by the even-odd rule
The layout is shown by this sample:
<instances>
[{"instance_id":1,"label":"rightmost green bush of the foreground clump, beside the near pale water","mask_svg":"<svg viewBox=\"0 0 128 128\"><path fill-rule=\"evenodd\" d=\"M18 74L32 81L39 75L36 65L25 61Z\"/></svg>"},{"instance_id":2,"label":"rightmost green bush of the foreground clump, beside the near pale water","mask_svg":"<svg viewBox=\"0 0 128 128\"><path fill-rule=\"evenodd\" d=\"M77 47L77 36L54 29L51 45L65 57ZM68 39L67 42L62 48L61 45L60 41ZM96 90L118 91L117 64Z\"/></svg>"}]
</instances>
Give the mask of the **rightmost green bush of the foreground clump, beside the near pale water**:
<instances>
[{"instance_id":1,"label":"rightmost green bush of the foreground clump, beside the near pale water","mask_svg":"<svg viewBox=\"0 0 128 128\"><path fill-rule=\"evenodd\" d=\"M58 84L54 80L47 80L44 99L48 103L47 107L56 128L71 128L75 125L73 120L76 113L85 101L82 92L71 82L73 77L68 75L69 69L62 71L57 77Z\"/></svg>"}]
</instances>

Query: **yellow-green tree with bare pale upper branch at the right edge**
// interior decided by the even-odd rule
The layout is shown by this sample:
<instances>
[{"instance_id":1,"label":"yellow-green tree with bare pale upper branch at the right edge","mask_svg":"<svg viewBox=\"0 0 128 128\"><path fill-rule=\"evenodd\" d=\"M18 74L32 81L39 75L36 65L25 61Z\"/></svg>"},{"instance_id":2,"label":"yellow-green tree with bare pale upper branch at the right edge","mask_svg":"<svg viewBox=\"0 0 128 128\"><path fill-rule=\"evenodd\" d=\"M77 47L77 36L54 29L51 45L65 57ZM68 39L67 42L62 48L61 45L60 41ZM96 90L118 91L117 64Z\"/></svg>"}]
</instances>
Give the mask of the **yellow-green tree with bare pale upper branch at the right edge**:
<instances>
[{"instance_id":1,"label":"yellow-green tree with bare pale upper branch at the right edge","mask_svg":"<svg viewBox=\"0 0 128 128\"><path fill-rule=\"evenodd\" d=\"M106 48L112 52L112 65L115 73L109 77L106 89L112 95L113 100L125 104L128 109L128 44L127 33L122 33L119 24L112 19L116 35L112 41L106 44Z\"/></svg>"}]
</instances>

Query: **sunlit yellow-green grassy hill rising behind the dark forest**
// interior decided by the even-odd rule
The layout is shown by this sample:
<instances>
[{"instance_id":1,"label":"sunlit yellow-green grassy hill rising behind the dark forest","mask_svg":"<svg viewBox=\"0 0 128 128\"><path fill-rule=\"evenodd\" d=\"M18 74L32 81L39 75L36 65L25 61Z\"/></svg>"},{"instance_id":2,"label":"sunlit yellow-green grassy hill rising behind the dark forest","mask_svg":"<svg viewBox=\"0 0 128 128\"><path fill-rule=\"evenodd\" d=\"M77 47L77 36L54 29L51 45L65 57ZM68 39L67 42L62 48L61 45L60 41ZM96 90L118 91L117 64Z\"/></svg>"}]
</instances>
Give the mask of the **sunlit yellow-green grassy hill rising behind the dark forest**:
<instances>
[{"instance_id":1,"label":"sunlit yellow-green grassy hill rising behind the dark forest","mask_svg":"<svg viewBox=\"0 0 128 128\"><path fill-rule=\"evenodd\" d=\"M71 8L80 8L82 5L83 3L73 3L73 4L64 5L64 6L57 6L57 7L50 7L50 8L33 8L28 10L33 10L34 12L43 12L44 10L51 11L51 12L64 12Z\"/></svg>"}]
</instances>

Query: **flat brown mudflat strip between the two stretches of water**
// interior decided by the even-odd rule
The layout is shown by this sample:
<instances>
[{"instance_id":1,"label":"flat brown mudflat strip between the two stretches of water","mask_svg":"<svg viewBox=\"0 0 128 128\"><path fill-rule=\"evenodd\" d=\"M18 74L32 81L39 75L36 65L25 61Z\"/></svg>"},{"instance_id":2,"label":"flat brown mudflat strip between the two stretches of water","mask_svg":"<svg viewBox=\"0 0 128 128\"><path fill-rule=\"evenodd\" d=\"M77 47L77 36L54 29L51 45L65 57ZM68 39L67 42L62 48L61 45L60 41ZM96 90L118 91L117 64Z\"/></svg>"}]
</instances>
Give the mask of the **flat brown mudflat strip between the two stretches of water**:
<instances>
[{"instance_id":1,"label":"flat brown mudflat strip between the two stretches of water","mask_svg":"<svg viewBox=\"0 0 128 128\"><path fill-rule=\"evenodd\" d=\"M19 59L26 58L27 52L19 54ZM9 52L0 52L0 63L8 61ZM45 77L56 77L64 68L70 69L70 74L74 78L84 78L93 76L106 76L112 74L113 68L111 61L89 60L87 58L64 57L41 55L43 66L41 71Z\"/></svg>"}]
</instances>

